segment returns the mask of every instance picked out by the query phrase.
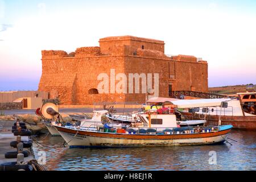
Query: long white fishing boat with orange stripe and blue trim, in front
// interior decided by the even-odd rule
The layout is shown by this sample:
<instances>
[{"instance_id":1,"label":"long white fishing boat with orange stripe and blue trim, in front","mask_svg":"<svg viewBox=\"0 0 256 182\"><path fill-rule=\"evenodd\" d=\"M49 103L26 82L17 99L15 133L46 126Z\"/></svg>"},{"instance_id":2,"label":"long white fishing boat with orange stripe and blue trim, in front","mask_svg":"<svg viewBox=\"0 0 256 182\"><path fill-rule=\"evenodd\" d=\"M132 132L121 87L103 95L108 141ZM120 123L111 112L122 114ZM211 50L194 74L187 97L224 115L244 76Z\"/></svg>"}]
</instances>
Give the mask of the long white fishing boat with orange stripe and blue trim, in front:
<instances>
[{"instance_id":1,"label":"long white fishing boat with orange stripe and blue trim, in front","mask_svg":"<svg viewBox=\"0 0 256 182\"><path fill-rule=\"evenodd\" d=\"M222 104L224 100L212 101L214 105ZM177 103L176 103L177 104ZM204 106L204 104L200 104ZM208 102L208 106L210 103ZM198 104L195 104L198 106ZM179 108L186 108L181 103ZM176 146L195 144L223 143L232 130L232 125L212 127L179 127L175 114L159 114L150 110L144 114L137 114L141 122L126 127L112 127L109 125L95 126L96 130L87 130L81 127L69 128L53 126L61 137L71 147L101 146Z\"/></svg>"}]
</instances>

